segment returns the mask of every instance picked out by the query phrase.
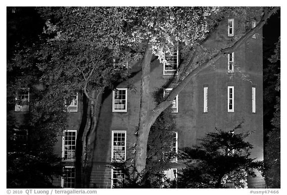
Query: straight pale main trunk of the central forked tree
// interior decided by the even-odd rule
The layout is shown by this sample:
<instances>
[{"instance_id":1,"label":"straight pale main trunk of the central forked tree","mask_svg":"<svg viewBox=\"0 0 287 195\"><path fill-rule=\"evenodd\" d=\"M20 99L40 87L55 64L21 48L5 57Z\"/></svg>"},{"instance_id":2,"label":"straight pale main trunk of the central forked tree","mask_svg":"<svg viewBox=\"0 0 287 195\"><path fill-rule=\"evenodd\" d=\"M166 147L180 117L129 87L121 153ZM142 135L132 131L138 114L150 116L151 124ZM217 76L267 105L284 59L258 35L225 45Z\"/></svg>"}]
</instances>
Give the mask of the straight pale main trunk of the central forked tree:
<instances>
[{"instance_id":1,"label":"straight pale main trunk of the central forked tree","mask_svg":"<svg viewBox=\"0 0 287 195\"><path fill-rule=\"evenodd\" d=\"M151 57L151 44L148 44L145 49L142 62L140 121L135 157L135 166L138 172L143 171L145 168L146 145L150 128L147 124L147 116L149 111L149 73Z\"/></svg>"}]
</instances>

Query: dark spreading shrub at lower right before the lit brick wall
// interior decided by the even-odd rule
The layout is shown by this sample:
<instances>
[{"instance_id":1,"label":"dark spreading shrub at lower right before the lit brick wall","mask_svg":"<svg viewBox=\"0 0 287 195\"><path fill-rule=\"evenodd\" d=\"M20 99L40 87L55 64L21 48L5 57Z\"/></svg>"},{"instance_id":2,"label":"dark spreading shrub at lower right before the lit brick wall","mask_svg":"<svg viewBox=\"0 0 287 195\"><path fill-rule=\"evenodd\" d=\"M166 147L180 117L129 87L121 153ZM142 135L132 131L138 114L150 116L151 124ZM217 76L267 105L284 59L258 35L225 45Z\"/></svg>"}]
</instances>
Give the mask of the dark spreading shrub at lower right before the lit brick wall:
<instances>
[{"instance_id":1,"label":"dark spreading shrub at lower right before the lit brick wall","mask_svg":"<svg viewBox=\"0 0 287 195\"><path fill-rule=\"evenodd\" d=\"M216 129L201 139L200 146L182 149L186 168L179 173L178 188L224 188L226 182L246 187L245 177L255 176L253 169L260 163L250 158L253 147L244 141L250 133L235 133L241 124L230 131Z\"/></svg>"}]
</instances>

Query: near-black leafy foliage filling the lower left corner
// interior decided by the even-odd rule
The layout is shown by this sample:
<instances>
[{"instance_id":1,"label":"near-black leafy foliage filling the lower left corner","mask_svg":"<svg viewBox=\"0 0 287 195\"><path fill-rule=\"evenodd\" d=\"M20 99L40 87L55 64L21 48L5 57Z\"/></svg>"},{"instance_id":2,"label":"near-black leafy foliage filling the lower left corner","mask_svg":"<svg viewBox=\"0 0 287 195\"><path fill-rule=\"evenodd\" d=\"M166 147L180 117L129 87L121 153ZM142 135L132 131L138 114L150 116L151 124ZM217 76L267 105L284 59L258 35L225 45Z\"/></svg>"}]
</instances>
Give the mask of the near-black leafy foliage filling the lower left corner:
<instances>
[{"instance_id":1,"label":"near-black leafy foliage filling the lower left corner","mask_svg":"<svg viewBox=\"0 0 287 195\"><path fill-rule=\"evenodd\" d=\"M42 97L45 93L36 94L30 93L34 99L25 123L15 122L7 112L7 188L54 188L52 177L62 174L53 146L66 129L66 116L59 106L63 101L53 103Z\"/></svg>"}]
</instances>

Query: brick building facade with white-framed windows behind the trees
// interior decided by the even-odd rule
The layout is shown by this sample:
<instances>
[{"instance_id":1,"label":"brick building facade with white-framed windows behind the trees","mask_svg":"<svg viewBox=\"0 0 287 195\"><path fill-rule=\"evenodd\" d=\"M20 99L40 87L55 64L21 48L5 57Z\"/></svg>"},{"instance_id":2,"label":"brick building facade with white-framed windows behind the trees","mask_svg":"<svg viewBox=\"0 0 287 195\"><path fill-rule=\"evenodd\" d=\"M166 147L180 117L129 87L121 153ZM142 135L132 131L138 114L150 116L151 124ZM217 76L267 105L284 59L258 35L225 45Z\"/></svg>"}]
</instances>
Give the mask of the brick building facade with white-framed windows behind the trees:
<instances>
[{"instance_id":1,"label":"brick building facade with white-framed windows behind the trees","mask_svg":"<svg viewBox=\"0 0 287 195\"><path fill-rule=\"evenodd\" d=\"M236 34L236 19L226 18L218 30L205 43L208 47L220 48ZM242 44L239 49L216 62L214 68L208 68L198 74L172 104L178 132L176 148L192 147L198 139L215 127L230 130L242 120L243 130L252 131L247 141L254 148L252 158L263 160L263 51L262 33ZM178 69L180 56L178 51L166 56L170 65L161 64L154 58L150 67L150 107L156 102L152 94L162 90L167 94L171 87L167 84ZM139 63L129 63L129 71L141 69ZM244 79L248 75L250 81ZM91 170L90 187L112 188L116 181L123 179L121 172L107 167L113 160L124 158L131 162L132 146L136 143L136 129L139 126L141 99L141 72L133 77L136 92L128 89L128 84L121 83L118 91L104 95L99 123L96 131L95 150ZM25 98L25 97L23 97ZM62 157L65 178L55 178L53 185L73 188L75 185L75 148L77 130L81 122L81 94L71 102L69 110L69 127L65 135L58 137L54 146L55 153ZM154 106L152 106L154 105ZM15 107L15 113L19 114ZM22 110L23 111L23 110ZM176 177L177 164L174 169L167 170L170 178ZM264 188L263 178L249 179L249 188Z\"/></svg>"}]
</instances>

